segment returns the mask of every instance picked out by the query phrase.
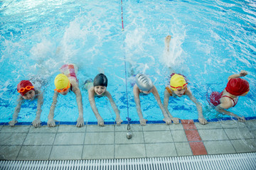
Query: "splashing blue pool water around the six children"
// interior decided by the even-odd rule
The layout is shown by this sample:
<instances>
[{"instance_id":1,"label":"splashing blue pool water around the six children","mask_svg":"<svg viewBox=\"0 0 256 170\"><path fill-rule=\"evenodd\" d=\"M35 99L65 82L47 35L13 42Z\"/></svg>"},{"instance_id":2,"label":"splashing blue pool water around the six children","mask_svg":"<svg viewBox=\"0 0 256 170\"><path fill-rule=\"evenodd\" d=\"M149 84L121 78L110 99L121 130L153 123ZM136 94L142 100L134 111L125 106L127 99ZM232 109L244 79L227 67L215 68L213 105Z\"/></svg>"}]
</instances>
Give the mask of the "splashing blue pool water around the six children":
<instances>
[{"instance_id":1,"label":"splashing blue pool water around the six children","mask_svg":"<svg viewBox=\"0 0 256 170\"><path fill-rule=\"evenodd\" d=\"M47 122L54 78L69 62L78 64L81 89L86 79L93 79L99 68L104 69L109 79L107 90L122 120L129 112L134 121L139 118L130 85L131 68L150 75L162 101L169 81L167 67L185 75L208 120L228 116L219 115L208 105L207 91L222 91L230 74L247 70L250 93L240 97L238 105L229 111L255 117L255 7L256 2L249 0L124 0L122 4L99 0L0 1L0 123L11 120L18 97L16 85L22 79L43 84L41 120ZM164 54L166 35L172 35L170 55ZM82 102L85 122L96 122L84 89ZM96 102L102 118L113 122L115 115L109 101L97 98ZM26 101L18 122L33 121L36 104ZM152 94L142 96L141 104L144 118L163 119ZM198 115L188 97L170 98L169 111L181 119L197 119ZM59 96L55 120L75 122L77 118L75 95Z\"/></svg>"}]
</instances>

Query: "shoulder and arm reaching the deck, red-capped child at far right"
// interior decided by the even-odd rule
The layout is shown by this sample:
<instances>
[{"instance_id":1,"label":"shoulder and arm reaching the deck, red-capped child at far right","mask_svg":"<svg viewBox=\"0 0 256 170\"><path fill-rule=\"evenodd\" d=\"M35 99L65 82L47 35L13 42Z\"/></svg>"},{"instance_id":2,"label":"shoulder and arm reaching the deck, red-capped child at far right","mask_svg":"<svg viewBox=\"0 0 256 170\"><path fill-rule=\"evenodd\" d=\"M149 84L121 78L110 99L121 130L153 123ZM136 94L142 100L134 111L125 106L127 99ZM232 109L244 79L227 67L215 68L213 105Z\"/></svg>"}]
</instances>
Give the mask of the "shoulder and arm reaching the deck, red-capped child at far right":
<instances>
[{"instance_id":1,"label":"shoulder and arm reaching the deck, red-capped child at far right","mask_svg":"<svg viewBox=\"0 0 256 170\"><path fill-rule=\"evenodd\" d=\"M223 101L224 100L224 101ZM225 109L231 108L233 106L233 103L231 101L228 101L228 98L222 98L222 103L220 103L218 106L216 106L215 110L223 113L225 115L231 115L235 118L238 118L238 121L245 122L245 117L240 117L239 115L235 115L232 112L225 111Z\"/></svg>"}]
</instances>

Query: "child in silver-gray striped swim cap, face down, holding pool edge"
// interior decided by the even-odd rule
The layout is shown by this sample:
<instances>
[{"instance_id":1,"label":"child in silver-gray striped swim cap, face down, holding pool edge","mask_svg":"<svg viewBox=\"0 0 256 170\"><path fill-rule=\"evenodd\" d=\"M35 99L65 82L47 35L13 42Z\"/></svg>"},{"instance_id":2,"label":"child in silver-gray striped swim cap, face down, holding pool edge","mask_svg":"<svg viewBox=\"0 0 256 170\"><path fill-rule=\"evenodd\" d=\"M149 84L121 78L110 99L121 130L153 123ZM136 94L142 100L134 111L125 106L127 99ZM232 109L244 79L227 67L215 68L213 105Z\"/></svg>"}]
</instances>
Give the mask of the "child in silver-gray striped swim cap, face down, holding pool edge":
<instances>
[{"instance_id":1,"label":"child in silver-gray striped swim cap, face down, holding pool edge","mask_svg":"<svg viewBox=\"0 0 256 170\"><path fill-rule=\"evenodd\" d=\"M164 115L164 121L166 125L171 124L171 119L169 118L168 114L166 113L163 104L161 103L161 99L159 93L156 89L156 86L152 83L151 79L145 74L137 74L135 77L136 84L134 84L133 92L134 92L134 101L136 103L137 113L139 115L139 123L141 125L146 125L146 119L143 118L142 109L139 99L139 94L153 94L154 98L156 98L156 102L159 104L159 107Z\"/></svg>"}]
</instances>

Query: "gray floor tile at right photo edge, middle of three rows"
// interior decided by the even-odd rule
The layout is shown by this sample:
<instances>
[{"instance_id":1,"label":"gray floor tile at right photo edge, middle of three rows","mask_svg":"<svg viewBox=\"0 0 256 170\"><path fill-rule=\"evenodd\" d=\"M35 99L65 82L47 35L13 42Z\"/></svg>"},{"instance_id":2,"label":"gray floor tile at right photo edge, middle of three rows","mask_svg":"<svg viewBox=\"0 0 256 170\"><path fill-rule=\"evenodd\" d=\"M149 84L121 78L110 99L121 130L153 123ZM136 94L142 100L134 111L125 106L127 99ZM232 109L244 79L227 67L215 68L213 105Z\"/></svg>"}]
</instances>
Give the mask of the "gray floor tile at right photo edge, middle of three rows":
<instances>
[{"instance_id":1,"label":"gray floor tile at right photo edge, middle of three rows","mask_svg":"<svg viewBox=\"0 0 256 170\"><path fill-rule=\"evenodd\" d=\"M248 128L224 129L230 140L252 139L254 135Z\"/></svg>"}]
</instances>

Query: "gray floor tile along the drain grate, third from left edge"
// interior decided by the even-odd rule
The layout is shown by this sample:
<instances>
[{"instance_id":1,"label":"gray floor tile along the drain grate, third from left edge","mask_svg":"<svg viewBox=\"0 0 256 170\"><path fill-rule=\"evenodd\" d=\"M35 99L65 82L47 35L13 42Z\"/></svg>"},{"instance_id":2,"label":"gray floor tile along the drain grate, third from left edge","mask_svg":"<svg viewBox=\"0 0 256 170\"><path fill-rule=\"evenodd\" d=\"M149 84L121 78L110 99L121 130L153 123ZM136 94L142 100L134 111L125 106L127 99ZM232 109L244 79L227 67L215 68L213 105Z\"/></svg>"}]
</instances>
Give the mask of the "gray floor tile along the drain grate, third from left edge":
<instances>
[{"instance_id":1,"label":"gray floor tile along the drain grate, third from left edge","mask_svg":"<svg viewBox=\"0 0 256 170\"><path fill-rule=\"evenodd\" d=\"M53 146L50 159L82 159L82 145Z\"/></svg>"}]
</instances>

